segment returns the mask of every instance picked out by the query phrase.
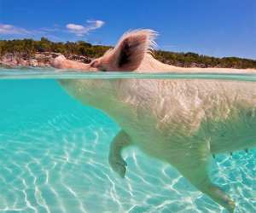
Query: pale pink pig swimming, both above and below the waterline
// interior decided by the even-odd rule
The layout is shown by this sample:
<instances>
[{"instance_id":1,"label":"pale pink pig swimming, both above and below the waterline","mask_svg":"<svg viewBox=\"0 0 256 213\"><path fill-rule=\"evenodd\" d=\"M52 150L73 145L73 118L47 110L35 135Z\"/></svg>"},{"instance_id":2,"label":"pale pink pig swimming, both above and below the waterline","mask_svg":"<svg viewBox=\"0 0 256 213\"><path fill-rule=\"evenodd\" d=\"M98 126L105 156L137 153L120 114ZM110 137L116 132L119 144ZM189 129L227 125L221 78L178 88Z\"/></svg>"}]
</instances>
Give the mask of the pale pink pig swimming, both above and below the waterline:
<instances>
[{"instance_id":1,"label":"pale pink pig swimming, both above and below the waterline","mask_svg":"<svg viewBox=\"0 0 256 213\"><path fill-rule=\"evenodd\" d=\"M56 58L63 69L130 72L214 72L169 66L150 55L155 32L127 32L114 49L83 64ZM221 69L218 69L220 71ZM239 72L226 70L225 72ZM172 164L202 193L231 212L235 203L207 173L212 154L256 144L256 83L211 79L62 79L61 85L85 105L96 107L121 127L111 143L109 164L125 176L121 152L136 145Z\"/></svg>"}]
</instances>

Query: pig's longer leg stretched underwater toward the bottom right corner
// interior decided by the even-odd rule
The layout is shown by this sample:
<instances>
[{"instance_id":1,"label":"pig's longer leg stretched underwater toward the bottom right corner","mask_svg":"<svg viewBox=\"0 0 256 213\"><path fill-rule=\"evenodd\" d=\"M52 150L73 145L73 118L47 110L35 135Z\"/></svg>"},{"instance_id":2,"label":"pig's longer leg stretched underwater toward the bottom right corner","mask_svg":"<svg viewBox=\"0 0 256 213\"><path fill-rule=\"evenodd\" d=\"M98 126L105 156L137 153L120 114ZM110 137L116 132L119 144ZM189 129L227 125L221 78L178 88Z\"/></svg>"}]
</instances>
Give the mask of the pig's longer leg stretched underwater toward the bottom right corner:
<instances>
[{"instance_id":1,"label":"pig's longer leg stretched underwater toward the bottom right corner","mask_svg":"<svg viewBox=\"0 0 256 213\"><path fill-rule=\"evenodd\" d=\"M224 191L212 183L208 176L208 161L211 156L208 141L194 142L179 154L175 166L202 193L233 212L235 203Z\"/></svg>"}]
</instances>

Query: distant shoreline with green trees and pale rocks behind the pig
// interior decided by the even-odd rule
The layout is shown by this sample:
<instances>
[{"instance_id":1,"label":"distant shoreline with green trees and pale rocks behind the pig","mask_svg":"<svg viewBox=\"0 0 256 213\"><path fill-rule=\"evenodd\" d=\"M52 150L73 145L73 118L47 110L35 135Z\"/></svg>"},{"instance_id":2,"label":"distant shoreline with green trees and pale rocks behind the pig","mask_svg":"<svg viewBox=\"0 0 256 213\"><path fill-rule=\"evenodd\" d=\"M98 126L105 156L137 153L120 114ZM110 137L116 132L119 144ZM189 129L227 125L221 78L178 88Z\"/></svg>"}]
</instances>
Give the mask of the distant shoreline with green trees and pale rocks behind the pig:
<instances>
[{"instance_id":1,"label":"distant shoreline with green trees and pale rocks behind the pig","mask_svg":"<svg viewBox=\"0 0 256 213\"><path fill-rule=\"evenodd\" d=\"M0 65L2 66L50 66L50 60L58 55L67 59L90 63L102 56L112 47L92 45L84 41L54 43L42 37L40 41L32 39L0 40ZM154 50L154 58L161 62L178 67L192 68L233 68L256 69L256 60L237 57L217 58L195 53L174 53Z\"/></svg>"}]
</instances>

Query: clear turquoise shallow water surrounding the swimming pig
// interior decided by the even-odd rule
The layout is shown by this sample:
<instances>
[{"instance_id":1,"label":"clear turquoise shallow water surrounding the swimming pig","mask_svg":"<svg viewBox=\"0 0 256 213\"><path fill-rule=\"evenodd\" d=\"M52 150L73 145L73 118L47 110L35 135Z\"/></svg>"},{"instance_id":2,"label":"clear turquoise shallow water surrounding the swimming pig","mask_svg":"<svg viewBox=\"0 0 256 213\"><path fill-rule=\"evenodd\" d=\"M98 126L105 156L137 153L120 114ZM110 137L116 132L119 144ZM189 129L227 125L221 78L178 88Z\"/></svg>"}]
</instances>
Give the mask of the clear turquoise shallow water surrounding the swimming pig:
<instances>
[{"instance_id":1,"label":"clear turquoise shallow water surrounding the swimming pig","mask_svg":"<svg viewBox=\"0 0 256 213\"><path fill-rule=\"evenodd\" d=\"M227 212L172 166L136 147L125 150L128 170L125 179L119 178L108 165L109 144L119 126L46 79L60 73L2 71L0 212ZM230 77L254 80L203 76ZM210 173L236 200L236 212L255 212L255 150L217 155Z\"/></svg>"}]
</instances>

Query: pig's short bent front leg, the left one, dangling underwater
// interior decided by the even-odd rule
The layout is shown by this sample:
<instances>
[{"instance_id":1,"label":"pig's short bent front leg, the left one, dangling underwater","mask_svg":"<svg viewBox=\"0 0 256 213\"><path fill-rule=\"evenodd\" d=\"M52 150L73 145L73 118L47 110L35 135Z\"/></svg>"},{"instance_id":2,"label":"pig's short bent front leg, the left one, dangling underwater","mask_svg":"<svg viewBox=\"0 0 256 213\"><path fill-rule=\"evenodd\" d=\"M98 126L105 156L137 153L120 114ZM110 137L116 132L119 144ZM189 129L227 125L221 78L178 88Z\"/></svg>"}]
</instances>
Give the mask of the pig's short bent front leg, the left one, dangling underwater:
<instances>
[{"instance_id":1,"label":"pig's short bent front leg, the left one, dangling underwater","mask_svg":"<svg viewBox=\"0 0 256 213\"><path fill-rule=\"evenodd\" d=\"M120 130L118 135L113 138L113 141L110 144L108 163L110 164L112 170L118 173L122 178L125 177L127 166L127 163L122 157L122 150L130 145L131 139L124 130Z\"/></svg>"}]
</instances>

